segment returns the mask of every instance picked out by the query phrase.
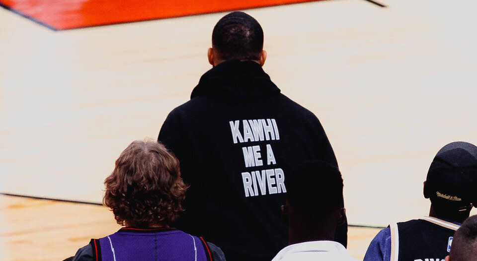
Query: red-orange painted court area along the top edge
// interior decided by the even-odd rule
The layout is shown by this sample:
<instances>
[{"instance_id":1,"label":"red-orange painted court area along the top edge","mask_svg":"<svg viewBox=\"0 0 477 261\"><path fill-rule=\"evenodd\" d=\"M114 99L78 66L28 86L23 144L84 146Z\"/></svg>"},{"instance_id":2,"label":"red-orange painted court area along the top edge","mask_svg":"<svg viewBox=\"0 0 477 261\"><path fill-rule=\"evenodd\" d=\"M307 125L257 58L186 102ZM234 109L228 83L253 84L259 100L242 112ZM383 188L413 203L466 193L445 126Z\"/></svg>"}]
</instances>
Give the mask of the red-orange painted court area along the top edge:
<instances>
[{"instance_id":1,"label":"red-orange painted court area along the top edge","mask_svg":"<svg viewBox=\"0 0 477 261\"><path fill-rule=\"evenodd\" d=\"M0 0L52 29L127 23L312 0Z\"/></svg>"}]
</instances>

